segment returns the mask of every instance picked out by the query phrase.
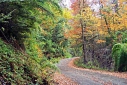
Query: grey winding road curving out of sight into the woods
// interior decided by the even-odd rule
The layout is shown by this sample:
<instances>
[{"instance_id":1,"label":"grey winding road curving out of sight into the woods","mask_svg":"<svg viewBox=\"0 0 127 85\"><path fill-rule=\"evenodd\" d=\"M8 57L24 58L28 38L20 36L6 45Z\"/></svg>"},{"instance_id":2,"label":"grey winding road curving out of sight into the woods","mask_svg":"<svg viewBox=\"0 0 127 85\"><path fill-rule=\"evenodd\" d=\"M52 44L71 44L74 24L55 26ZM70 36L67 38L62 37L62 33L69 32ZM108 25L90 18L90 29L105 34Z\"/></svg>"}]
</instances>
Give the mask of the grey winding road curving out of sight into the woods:
<instances>
[{"instance_id":1,"label":"grey winding road curving out of sight into the woods","mask_svg":"<svg viewBox=\"0 0 127 85\"><path fill-rule=\"evenodd\" d=\"M69 77L79 85L127 85L126 78L118 78L101 72L70 66L69 63L73 59L75 58L62 59L57 64L57 67L63 75Z\"/></svg>"}]
</instances>

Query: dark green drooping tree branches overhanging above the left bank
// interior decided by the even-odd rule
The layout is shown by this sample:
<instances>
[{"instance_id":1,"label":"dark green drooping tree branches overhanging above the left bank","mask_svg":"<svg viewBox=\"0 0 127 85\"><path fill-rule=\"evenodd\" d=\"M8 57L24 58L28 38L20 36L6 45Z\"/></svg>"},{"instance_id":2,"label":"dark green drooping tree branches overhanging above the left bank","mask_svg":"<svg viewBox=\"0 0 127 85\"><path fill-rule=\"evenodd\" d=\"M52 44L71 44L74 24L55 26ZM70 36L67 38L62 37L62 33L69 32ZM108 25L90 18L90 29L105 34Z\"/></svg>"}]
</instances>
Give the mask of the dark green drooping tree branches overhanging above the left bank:
<instances>
[{"instance_id":1,"label":"dark green drooping tree branches overhanging above the left bank","mask_svg":"<svg viewBox=\"0 0 127 85\"><path fill-rule=\"evenodd\" d=\"M0 3L0 24L2 24L0 29L5 28L5 36L8 39L14 37L21 44L24 38L29 37L26 32L31 34L31 31L36 29L34 23L41 24L42 19L38 17L42 13L54 17L55 11L61 11L59 5L53 0L3 0L1 2L3 3Z\"/></svg>"}]
</instances>

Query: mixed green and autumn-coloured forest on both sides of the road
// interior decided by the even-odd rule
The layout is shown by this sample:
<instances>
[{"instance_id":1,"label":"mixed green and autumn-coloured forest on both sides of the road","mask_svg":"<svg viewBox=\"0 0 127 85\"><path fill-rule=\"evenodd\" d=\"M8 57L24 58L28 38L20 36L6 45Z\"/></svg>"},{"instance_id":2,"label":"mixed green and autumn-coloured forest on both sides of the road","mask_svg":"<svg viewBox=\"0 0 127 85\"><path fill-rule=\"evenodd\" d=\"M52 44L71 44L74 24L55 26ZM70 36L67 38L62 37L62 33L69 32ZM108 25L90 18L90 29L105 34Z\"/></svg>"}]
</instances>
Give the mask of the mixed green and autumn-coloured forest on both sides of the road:
<instances>
[{"instance_id":1,"label":"mixed green and autumn-coloured forest on both sides of the road","mask_svg":"<svg viewBox=\"0 0 127 85\"><path fill-rule=\"evenodd\" d=\"M127 71L127 1L0 0L0 84L52 85L61 59Z\"/></svg>"}]
</instances>

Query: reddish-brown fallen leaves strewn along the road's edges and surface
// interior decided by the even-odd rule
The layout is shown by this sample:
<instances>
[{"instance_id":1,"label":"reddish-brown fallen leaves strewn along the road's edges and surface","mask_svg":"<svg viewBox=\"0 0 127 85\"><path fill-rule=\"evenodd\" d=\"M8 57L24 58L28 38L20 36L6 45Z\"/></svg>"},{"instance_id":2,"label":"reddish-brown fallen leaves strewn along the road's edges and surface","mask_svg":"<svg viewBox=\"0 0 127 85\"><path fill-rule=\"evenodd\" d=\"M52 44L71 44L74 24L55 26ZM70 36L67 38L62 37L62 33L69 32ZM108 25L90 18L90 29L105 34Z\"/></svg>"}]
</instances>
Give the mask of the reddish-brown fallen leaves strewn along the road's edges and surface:
<instances>
[{"instance_id":1,"label":"reddish-brown fallen leaves strewn along the road's edges and surface","mask_svg":"<svg viewBox=\"0 0 127 85\"><path fill-rule=\"evenodd\" d=\"M119 72L108 72L108 71L101 71L101 70L94 70L94 69L79 68L79 67L74 65L74 61L76 59L79 59L79 57L73 58L68 63L68 66L71 67L71 68L78 69L78 70L86 70L86 71L89 71L89 72L96 72L96 73L101 73L101 74L105 74L105 75L115 76L115 77L118 77L118 78L127 79L127 72L119 73ZM75 81L71 80L70 78L68 78L65 75L63 75L61 73L58 73L58 72L56 72L54 74L53 79L55 81L55 85L79 85ZM103 81L100 81L99 79L96 79L96 78L94 78L92 80L94 80L96 82L100 82L103 85L112 85L111 82L103 82Z\"/></svg>"}]
</instances>

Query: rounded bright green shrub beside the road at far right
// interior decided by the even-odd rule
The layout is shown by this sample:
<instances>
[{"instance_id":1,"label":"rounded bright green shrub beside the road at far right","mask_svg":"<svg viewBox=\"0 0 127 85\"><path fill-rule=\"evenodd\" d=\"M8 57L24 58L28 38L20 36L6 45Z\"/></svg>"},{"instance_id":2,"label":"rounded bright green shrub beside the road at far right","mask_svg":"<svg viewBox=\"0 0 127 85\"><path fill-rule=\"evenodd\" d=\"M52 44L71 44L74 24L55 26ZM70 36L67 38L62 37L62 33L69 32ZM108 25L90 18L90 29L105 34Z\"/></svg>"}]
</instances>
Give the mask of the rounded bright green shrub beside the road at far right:
<instances>
[{"instance_id":1,"label":"rounded bright green shrub beside the road at far right","mask_svg":"<svg viewBox=\"0 0 127 85\"><path fill-rule=\"evenodd\" d=\"M115 61L115 71L127 71L127 44L117 43L112 48L112 57Z\"/></svg>"}]
</instances>

